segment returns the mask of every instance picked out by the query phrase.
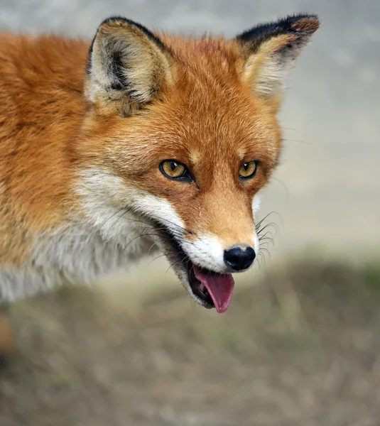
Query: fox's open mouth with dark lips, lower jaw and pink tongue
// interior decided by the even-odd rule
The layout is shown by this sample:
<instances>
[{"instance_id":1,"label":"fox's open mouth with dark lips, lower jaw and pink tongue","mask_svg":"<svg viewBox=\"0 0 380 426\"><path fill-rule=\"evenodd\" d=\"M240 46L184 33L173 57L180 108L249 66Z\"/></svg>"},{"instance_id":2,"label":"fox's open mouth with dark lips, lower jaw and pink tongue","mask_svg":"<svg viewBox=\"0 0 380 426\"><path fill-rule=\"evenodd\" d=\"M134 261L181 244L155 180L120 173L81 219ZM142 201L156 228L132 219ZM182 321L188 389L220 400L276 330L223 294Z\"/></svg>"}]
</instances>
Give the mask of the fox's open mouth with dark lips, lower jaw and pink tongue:
<instances>
[{"instance_id":1,"label":"fox's open mouth with dark lips, lower jaw and pink tongue","mask_svg":"<svg viewBox=\"0 0 380 426\"><path fill-rule=\"evenodd\" d=\"M217 273L195 265L168 229L163 231L163 236L175 255L177 267L179 263L187 275L192 297L202 306L225 312L234 290L232 274Z\"/></svg>"}]
</instances>

